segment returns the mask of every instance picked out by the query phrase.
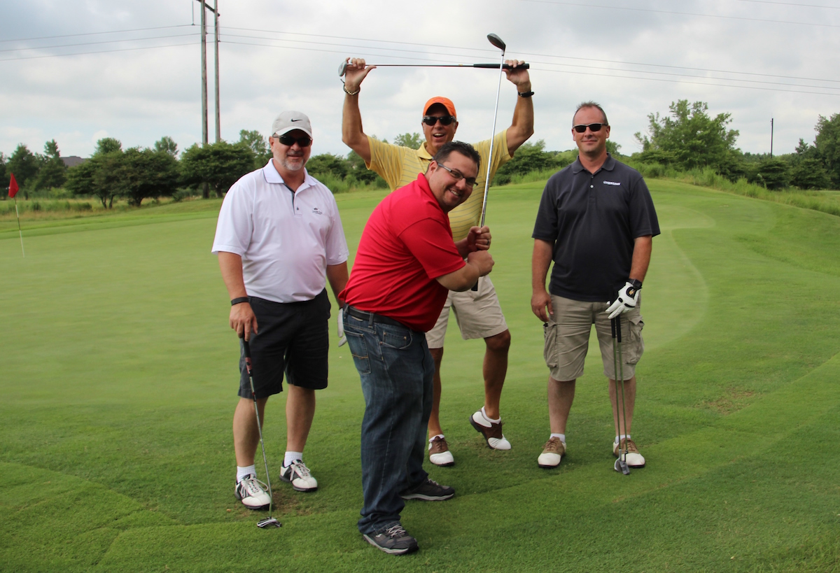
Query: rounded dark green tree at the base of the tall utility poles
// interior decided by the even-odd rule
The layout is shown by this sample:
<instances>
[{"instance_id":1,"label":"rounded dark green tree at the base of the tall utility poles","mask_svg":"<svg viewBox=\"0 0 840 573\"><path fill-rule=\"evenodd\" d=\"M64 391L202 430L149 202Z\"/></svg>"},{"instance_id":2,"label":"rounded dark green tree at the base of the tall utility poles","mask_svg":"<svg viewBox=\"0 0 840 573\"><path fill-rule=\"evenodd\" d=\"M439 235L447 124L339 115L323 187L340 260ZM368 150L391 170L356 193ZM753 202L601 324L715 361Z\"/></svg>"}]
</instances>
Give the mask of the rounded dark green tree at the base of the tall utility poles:
<instances>
[{"instance_id":1,"label":"rounded dark green tree at the base of the tall utility poles","mask_svg":"<svg viewBox=\"0 0 840 573\"><path fill-rule=\"evenodd\" d=\"M254 151L246 145L219 141L203 147L195 144L181 154L181 182L197 189L207 183L217 197L241 176L254 171ZM202 195L207 198L202 191Z\"/></svg>"}]
</instances>

